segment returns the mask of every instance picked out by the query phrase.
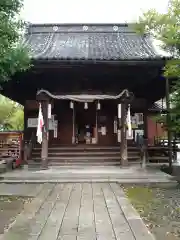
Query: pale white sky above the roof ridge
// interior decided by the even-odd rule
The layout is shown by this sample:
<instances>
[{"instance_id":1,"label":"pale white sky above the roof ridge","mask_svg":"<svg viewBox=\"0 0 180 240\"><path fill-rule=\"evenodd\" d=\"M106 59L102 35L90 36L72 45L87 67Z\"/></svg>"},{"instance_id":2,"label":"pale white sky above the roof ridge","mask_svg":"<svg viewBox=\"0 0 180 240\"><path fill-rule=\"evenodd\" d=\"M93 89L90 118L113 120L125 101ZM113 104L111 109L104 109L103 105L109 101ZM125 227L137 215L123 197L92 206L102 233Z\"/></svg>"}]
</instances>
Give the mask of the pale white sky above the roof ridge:
<instances>
[{"instance_id":1,"label":"pale white sky above the roof ridge","mask_svg":"<svg viewBox=\"0 0 180 240\"><path fill-rule=\"evenodd\" d=\"M123 23L143 10L166 11L168 0L24 0L22 17L32 23Z\"/></svg>"}]
</instances>

